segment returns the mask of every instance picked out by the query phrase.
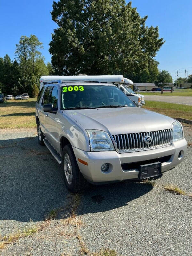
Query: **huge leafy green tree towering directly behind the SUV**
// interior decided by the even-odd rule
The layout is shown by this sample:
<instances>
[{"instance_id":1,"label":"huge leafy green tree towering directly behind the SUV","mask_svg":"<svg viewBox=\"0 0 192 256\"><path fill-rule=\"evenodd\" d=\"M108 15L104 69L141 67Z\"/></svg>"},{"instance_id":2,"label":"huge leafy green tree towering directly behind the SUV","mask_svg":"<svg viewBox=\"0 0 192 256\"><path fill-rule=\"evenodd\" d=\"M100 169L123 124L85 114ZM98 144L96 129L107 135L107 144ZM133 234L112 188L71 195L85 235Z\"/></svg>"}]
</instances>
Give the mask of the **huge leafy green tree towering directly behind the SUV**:
<instances>
[{"instance_id":1,"label":"huge leafy green tree towering directly behind the SUV","mask_svg":"<svg viewBox=\"0 0 192 256\"><path fill-rule=\"evenodd\" d=\"M49 52L57 74L141 72L162 46L158 27L147 27L131 2L60 0L51 12L58 28Z\"/></svg>"}]
</instances>

